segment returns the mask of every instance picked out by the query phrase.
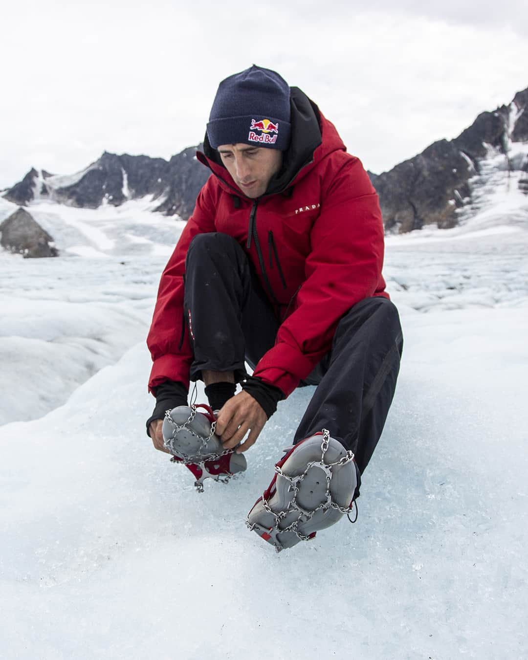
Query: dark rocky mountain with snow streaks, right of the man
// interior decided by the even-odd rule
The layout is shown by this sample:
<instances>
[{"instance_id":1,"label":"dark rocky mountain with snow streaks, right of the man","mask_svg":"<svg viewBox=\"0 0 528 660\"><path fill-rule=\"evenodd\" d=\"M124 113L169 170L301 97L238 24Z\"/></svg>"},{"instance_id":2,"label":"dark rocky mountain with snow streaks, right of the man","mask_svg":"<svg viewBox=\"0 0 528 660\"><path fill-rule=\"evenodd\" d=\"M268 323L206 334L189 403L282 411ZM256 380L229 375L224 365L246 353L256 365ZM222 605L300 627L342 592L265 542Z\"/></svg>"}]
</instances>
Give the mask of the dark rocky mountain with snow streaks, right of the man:
<instances>
[{"instance_id":1,"label":"dark rocky mountain with snow streaks, right of the man","mask_svg":"<svg viewBox=\"0 0 528 660\"><path fill-rule=\"evenodd\" d=\"M528 194L528 88L508 106L483 112L451 141L430 145L390 172L372 175L385 229L463 224L481 207L483 187L508 174L510 189Z\"/></svg>"}]
</instances>

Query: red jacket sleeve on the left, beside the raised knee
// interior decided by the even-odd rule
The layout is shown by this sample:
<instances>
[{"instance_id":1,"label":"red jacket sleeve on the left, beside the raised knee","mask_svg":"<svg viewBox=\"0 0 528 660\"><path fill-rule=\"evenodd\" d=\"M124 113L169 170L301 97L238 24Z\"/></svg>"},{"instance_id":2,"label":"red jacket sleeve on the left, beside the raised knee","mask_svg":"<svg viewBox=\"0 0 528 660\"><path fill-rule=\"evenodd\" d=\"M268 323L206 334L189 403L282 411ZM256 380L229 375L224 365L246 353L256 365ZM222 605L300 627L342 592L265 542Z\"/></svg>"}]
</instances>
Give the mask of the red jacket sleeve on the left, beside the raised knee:
<instances>
[{"instance_id":1,"label":"red jacket sleeve on the left, beside the raised knee","mask_svg":"<svg viewBox=\"0 0 528 660\"><path fill-rule=\"evenodd\" d=\"M183 317L183 275L185 257L197 234L215 231L213 182L209 178L201 189L193 215L187 220L182 236L160 280L154 316L147 337L152 356L149 391L166 380L179 381L188 389L189 369L193 360L187 323Z\"/></svg>"}]
</instances>

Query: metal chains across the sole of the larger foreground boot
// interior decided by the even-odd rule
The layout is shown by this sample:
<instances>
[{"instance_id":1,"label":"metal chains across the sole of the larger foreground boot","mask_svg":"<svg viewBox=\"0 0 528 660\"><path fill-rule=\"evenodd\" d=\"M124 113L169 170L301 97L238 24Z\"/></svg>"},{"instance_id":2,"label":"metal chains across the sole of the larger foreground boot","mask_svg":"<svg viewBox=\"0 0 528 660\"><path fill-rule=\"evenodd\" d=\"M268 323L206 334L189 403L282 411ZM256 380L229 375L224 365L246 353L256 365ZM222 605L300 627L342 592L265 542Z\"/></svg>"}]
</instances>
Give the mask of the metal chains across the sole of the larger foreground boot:
<instances>
[{"instance_id":1,"label":"metal chains across the sole of the larger foreground boot","mask_svg":"<svg viewBox=\"0 0 528 660\"><path fill-rule=\"evenodd\" d=\"M332 501L332 496L330 492L330 481L332 479L332 468L333 467L338 467L339 465L346 465L347 463L350 463L350 461L354 460L354 453L352 451L347 451L345 456L341 457L338 461L334 461L333 463L325 463L325 453L327 452L327 449L330 445L330 432L323 428L323 441L321 442L321 460L320 461L310 461L308 465L306 466L305 471L302 473L302 475L298 475L296 477L290 477L288 475L285 475L282 472L282 469L278 466L275 465L275 472L277 475L284 477L284 479L288 480L291 484L290 488L293 491L293 498L289 502L286 510L281 511L279 513L275 513L272 509L271 506L269 506L268 501L262 496L262 504L265 510L268 513L271 513L275 519L275 526L271 528L271 531L273 531L273 535L277 535L277 533L283 534L285 532L293 532L300 541L310 541L312 539L311 536L307 536L302 534L300 531L298 531L297 527L300 523L306 523L312 517L314 517L315 513L317 513L321 509L337 509L337 511L341 513L350 513L353 508L353 504L350 504L350 506L345 507L345 506L339 506L337 502ZM325 501L321 502L319 506L317 506L314 510L308 511L306 509L303 509L299 504L297 503L297 494L299 492L299 486L298 484L302 482L302 480L308 475L308 471L312 467L318 467L319 469L323 470L325 473L326 477L326 493L325 493ZM282 519L285 518L287 515L289 515L292 511L297 511L300 513L298 519L294 520L290 525L287 527L279 527L279 523L281 523ZM249 520L246 521L246 524L248 525L249 529L251 531L254 529L255 525L249 523ZM277 552L281 552L282 547L279 545L279 543L274 543L275 545L275 550Z\"/></svg>"}]
</instances>

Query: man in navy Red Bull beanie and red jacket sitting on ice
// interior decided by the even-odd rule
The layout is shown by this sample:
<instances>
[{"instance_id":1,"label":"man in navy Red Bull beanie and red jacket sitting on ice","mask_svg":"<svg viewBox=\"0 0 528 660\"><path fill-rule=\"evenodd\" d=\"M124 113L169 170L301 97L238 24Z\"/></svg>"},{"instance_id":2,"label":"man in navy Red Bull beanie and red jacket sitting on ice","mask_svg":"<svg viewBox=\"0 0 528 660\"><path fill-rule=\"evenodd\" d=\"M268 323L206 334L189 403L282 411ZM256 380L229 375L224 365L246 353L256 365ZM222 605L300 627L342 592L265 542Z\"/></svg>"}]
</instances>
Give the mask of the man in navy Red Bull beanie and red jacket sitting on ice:
<instances>
[{"instance_id":1,"label":"man in navy Red Bull beanie and red jacket sitting on ice","mask_svg":"<svg viewBox=\"0 0 528 660\"><path fill-rule=\"evenodd\" d=\"M393 398L378 195L314 102L255 65L220 83L197 158L212 175L160 282L147 428L201 485L246 469L278 401L317 385L248 516L281 550L350 511ZM199 379L205 414L187 406Z\"/></svg>"}]
</instances>

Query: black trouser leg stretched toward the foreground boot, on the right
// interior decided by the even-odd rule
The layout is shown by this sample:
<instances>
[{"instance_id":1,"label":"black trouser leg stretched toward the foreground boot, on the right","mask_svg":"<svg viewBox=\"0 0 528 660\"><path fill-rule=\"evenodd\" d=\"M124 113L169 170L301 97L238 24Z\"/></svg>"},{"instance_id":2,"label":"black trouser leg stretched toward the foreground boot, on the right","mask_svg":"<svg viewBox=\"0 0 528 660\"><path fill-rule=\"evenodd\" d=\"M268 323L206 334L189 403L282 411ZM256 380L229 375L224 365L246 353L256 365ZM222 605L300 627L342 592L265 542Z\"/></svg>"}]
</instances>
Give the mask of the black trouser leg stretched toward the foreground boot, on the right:
<instances>
[{"instance_id":1,"label":"black trouser leg stretched toward the foreground boot, on the right","mask_svg":"<svg viewBox=\"0 0 528 660\"><path fill-rule=\"evenodd\" d=\"M387 298L366 298L354 305L339 321L329 364L294 444L327 428L333 438L354 452L360 477L389 412L402 347L398 312Z\"/></svg>"}]
</instances>

